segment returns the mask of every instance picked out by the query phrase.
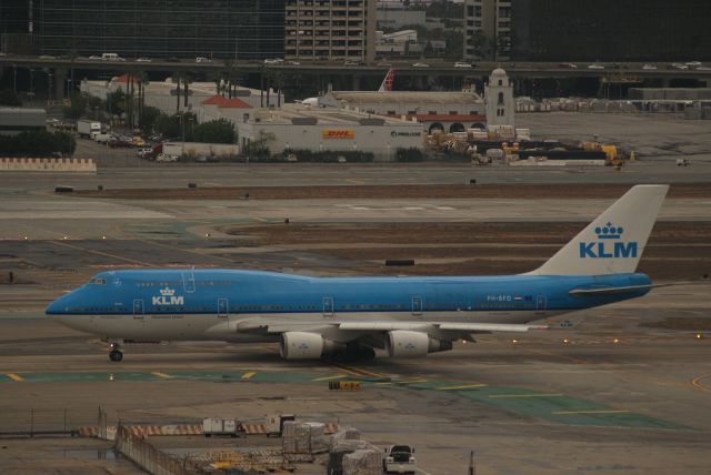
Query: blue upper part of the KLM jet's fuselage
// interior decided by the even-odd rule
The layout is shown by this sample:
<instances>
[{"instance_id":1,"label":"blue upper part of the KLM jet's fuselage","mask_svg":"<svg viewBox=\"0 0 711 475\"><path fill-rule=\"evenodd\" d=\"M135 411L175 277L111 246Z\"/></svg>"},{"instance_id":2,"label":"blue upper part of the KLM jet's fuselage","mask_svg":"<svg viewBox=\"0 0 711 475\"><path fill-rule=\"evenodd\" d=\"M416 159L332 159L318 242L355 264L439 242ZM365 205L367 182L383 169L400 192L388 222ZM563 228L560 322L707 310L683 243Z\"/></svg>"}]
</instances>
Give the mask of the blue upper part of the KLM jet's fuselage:
<instances>
[{"instance_id":1,"label":"blue upper part of the KLM jet's fuselage","mask_svg":"<svg viewBox=\"0 0 711 475\"><path fill-rule=\"evenodd\" d=\"M308 277L233 270L113 271L58 299L50 315L574 311L645 294L572 296L573 289L649 285L598 276Z\"/></svg>"}]
</instances>

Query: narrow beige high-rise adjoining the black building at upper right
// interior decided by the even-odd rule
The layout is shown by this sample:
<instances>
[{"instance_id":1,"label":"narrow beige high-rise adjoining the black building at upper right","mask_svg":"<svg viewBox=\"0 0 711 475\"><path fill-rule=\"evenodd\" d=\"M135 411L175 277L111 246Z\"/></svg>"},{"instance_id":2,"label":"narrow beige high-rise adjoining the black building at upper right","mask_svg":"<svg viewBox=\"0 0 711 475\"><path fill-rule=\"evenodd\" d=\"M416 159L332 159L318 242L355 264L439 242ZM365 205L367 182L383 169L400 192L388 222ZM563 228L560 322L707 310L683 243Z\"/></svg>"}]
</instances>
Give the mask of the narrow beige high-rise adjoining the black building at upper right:
<instances>
[{"instance_id":1,"label":"narrow beige high-rise adjoining the black building at upper right","mask_svg":"<svg viewBox=\"0 0 711 475\"><path fill-rule=\"evenodd\" d=\"M464 58L507 61L511 54L511 0L464 1Z\"/></svg>"}]
</instances>

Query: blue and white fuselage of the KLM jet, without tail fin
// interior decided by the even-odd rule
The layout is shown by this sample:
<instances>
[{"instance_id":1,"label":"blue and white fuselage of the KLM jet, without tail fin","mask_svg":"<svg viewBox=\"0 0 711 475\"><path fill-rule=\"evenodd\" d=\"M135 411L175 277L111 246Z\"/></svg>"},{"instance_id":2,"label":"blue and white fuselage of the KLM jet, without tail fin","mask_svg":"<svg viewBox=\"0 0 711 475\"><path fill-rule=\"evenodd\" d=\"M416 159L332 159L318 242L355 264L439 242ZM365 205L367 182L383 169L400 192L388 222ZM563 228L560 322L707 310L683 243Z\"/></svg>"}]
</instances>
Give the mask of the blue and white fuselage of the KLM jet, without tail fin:
<instances>
[{"instance_id":1,"label":"blue and white fuselage of the KLM jet, without tail fin","mask_svg":"<svg viewBox=\"0 0 711 475\"><path fill-rule=\"evenodd\" d=\"M639 273L309 277L232 270L116 271L60 297L47 314L109 338L277 341L277 333L240 329L261 317L289 325L334 319L519 324L648 292L571 295L571 290L648 284L649 277Z\"/></svg>"}]
</instances>

